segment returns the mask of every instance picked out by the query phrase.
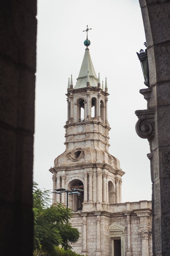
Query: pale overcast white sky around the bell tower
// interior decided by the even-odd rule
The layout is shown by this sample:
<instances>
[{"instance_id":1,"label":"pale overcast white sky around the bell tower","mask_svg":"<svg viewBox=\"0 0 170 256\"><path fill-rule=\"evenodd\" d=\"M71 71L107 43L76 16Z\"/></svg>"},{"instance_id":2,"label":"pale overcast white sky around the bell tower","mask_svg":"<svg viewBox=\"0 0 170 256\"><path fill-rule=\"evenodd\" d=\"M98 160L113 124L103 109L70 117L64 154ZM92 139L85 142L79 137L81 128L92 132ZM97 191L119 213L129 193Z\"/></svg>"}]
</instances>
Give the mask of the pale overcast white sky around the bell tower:
<instances>
[{"instance_id":1,"label":"pale overcast white sky around the bell tower","mask_svg":"<svg viewBox=\"0 0 170 256\"><path fill-rule=\"evenodd\" d=\"M54 159L65 151L68 77L76 83L88 24L92 63L107 77L109 152L120 160L122 202L151 200L149 142L135 131L135 110L147 109L136 55L145 49L138 0L39 0L34 140L34 181L52 189Z\"/></svg>"}]
</instances>

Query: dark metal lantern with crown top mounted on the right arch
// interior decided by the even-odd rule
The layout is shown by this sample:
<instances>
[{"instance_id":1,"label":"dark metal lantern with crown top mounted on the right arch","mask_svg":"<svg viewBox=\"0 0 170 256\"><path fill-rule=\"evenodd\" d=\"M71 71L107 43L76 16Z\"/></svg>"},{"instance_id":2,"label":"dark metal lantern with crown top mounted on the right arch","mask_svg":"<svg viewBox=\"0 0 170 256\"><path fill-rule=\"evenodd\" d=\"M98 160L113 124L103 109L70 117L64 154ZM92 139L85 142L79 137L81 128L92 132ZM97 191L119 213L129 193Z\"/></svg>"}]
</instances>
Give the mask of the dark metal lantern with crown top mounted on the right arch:
<instances>
[{"instance_id":1,"label":"dark metal lantern with crown top mounted on the right arch","mask_svg":"<svg viewBox=\"0 0 170 256\"><path fill-rule=\"evenodd\" d=\"M144 45L147 47L147 43L145 42ZM147 56L147 49L145 52L143 49L140 49L140 52L137 53L137 56L140 60L140 64L142 67L143 76L145 79L144 84L149 87L149 68L148 68L148 56Z\"/></svg>"}]
</instances>

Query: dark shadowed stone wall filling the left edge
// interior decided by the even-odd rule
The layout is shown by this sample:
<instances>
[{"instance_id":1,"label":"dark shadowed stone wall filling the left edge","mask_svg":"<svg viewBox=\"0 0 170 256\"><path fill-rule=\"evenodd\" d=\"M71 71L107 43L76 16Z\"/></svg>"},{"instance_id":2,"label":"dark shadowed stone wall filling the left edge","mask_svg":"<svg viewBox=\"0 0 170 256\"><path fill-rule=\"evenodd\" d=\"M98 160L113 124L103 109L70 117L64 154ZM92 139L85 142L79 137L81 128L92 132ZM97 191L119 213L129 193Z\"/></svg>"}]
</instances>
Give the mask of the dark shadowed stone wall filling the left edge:
<instances>
[{"instance_id":1,"label":"dark shadowed stone wall filling the left edge","mask_svg":"<svg viewBox=\"0 0 170 256\"><path fill-rule=\"evenodd\" d=\"M1 255L32 255L36 1L0 7Z\"/></svg>"}]
</instances>

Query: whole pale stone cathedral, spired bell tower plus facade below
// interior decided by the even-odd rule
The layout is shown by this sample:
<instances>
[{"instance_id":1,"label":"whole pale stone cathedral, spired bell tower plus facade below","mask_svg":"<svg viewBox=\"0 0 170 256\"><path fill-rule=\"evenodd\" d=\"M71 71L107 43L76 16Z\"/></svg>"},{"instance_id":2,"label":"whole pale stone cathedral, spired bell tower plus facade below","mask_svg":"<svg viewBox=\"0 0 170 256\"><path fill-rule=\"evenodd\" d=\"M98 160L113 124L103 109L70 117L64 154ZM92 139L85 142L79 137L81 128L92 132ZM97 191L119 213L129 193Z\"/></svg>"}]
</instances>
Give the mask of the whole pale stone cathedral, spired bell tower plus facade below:
<instances>
[{"instance_id":1,"label":"whole pale stone cathedral, spired bell tower plus facade below","mask_svg":"<svg viewBox=\"0 0 170 256\"><path fill-rule=\"evenodd\" d=\"M72 76L68 82L68 118L64 126L66 150L54 160L54 167L50 169L53 189L84 190L81 195L70 195L68 199L68 207L73 211L72 225L81 232L79 241L72 245L74 251L88 256L125 256L125 252L132 255L131 239L126 236L132 232L131 215L135 209L141 209L141 203L136 203L135 208L129 202L121 203L124 172L119 160L108 151L111 127L107 119L107 81L105 88L103 82L101 86L89 53L90 41L86 39L84 45L86 49L77 83L73 85ZM66 194L53 193L53 204L56 202L66 204ZM145 202L142 207L148 208L149 202L142 202ZM149 228L148 211L141 228ZM137 214L140 216L141 212L135 213L135 217ZM149 252L149 244L146 246Z\"/></svg>"}]
</instances>

